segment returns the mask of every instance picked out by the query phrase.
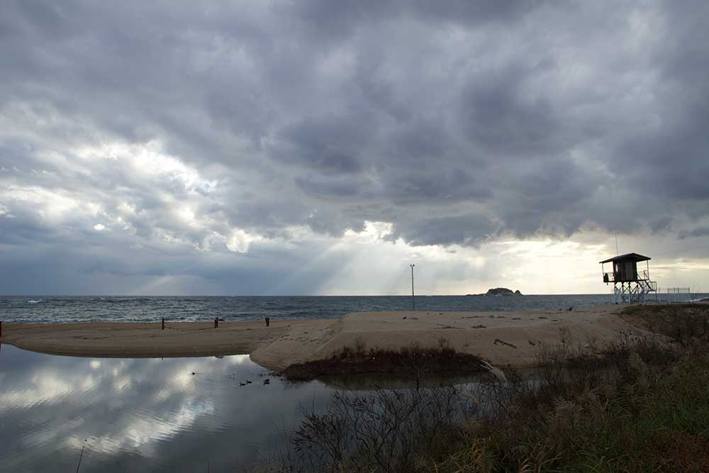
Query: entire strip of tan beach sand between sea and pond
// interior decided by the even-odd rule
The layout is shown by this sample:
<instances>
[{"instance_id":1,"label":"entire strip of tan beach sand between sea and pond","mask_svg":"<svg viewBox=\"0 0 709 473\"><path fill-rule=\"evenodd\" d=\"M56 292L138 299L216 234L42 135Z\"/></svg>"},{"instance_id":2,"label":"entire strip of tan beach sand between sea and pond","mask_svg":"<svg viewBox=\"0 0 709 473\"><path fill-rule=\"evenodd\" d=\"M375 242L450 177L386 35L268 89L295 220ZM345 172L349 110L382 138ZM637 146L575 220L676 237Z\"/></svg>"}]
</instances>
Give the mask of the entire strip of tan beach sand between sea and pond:
<instances>
[{"instance_id":1,"label":"entire strip of tan beach sand between sea and pond","mask_svg":"<svg viewBox=\"0 0 709 473\"><path fill-rule=\"evenodd\" d=\"M647 333L618 315L622 306L574 311L362 312L340 319L264 322L4 324L1 343L57 355L92 357L179 357L250 354L254 362L280 370L325 359L342 347L393 348L417 343L455 350L494 365L529 367L540 343L603 343L623 330Z\"/></svg>"}]
</instances>

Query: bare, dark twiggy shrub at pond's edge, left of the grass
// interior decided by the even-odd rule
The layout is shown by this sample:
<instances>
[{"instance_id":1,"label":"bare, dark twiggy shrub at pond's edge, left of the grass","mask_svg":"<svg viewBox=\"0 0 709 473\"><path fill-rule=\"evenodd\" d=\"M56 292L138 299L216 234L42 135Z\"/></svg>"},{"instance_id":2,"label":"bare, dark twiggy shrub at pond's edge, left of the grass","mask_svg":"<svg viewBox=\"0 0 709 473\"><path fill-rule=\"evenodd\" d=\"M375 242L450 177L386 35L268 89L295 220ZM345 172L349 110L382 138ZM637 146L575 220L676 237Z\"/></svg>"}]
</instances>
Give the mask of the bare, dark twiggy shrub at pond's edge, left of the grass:
<instances>
[{"instance_id":1,"label":"bare, dark twiggy shrub at pond's edge, left of the grass","mask_svg":"<svg viewBox=\"0 0 709 473\"><path fill-rule=\"evenodd\" d=\"M419 452L445 457L471 408L454 386L338 391L328 411L306 413L294 451L298 464L319 472L410 472Z\"/></svg>"}]
</instances>

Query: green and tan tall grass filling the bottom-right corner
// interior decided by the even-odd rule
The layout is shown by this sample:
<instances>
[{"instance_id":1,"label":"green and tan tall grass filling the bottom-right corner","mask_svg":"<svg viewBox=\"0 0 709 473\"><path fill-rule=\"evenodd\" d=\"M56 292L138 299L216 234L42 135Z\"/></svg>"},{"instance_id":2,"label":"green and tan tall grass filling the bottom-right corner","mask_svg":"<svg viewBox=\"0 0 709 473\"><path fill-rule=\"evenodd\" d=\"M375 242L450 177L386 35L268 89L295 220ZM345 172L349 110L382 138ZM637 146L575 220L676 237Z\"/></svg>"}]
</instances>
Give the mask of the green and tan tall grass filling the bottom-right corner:
<instances>
[{"instance_id":1,"label":"green and tan tall grass filling the bottom-right corner","mask_svg":"<svg viewBox=\"0 0 709 473\"><path fill-rule=\"evenodd\" d=\"M709 360L658 369L634 353L628 365L630 377L616 373L593 389L514 399L506 418L482 419L465 433L471 440L447 458L431 458L428 467L451 473L708 472Z\"/></svg>"}]
</instances>

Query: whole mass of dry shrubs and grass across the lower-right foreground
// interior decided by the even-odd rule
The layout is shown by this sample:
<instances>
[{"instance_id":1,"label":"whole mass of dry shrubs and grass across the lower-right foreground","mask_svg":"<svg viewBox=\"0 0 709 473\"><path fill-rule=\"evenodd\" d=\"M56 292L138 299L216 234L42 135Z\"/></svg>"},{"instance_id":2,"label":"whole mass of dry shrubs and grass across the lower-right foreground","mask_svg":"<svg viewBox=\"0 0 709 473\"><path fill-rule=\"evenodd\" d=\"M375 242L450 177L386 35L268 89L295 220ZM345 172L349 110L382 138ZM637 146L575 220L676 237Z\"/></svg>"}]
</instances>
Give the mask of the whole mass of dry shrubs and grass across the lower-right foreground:
<instances>
[{"instance_id":1,"label":"whole mass of dry shrubs and grass across the lower-right foreground","mask_svg":"<svg viewBox=\"0 0 709 473\"><path fill-rule=\"evenodd\" d=\"M596 347L562 332L534 381L488 366L473 389L338 392L264 471L709 472L709 308L625 316L658 335Z\"/></svg>"}]
</instances>

